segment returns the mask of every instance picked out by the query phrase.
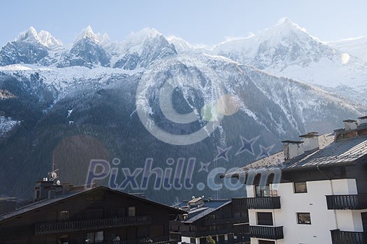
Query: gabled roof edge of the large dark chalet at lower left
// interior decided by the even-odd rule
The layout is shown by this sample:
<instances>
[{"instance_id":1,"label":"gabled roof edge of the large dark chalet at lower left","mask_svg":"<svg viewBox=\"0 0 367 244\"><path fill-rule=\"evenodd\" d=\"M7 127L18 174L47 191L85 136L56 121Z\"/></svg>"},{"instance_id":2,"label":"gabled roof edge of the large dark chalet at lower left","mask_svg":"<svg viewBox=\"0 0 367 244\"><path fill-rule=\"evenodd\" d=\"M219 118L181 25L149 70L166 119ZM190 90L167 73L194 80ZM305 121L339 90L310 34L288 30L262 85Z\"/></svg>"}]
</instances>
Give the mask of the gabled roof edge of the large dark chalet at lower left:
<instances>
[{"instance_id":1,"label":"gabled roof edge of the large dark chalet at lower left","mask_svg":"<svg viewBox=\"0 0 367 244\"><path fill-rule=\"evenodd\" d=\"M57 204L59 201L65 201L66 199L73 199L74 197L78 197L78 196L83 195L87 192L90 194L92 192L96 192L96 191L99 191L99 190L106 190L108 192L113 192L117 195L123 195L125 197L131 197L131 198L134 198L134 199L138 199L139 201L144 201L146 204L152 204L152 205L156 205L156 206L159 206L159 207L162 207L162 208L167 208L169 213L174 213L174 214L186 213L185 211L182 211L178 208L172 208L171 206L168 206L168 205L165 205L165 204L160 204L157 201L151 201L151 200L148 200L148 199L145 199L145 198L142 198L142 197L137 197L135 195L131 195L131 194L126 193L126 192L113 190L113 189L110 189L110 188L107 188L107 187L101 185L101 186L97 186L96 188L89 188L89 189L81 190L81 191L78 191L78 192L69 192L69 194L61 195L59 197L55 197L55 198L52 198L52 199L45 199L45 200L41 200L41 201L35 201L34 203L29 204L27 206L24 206L22 208L18 208L15 211L11 211L11 212L5 213L3 215L0 215L0 223L3 222L3 221L9 220L11 218L15 218L15 217L17 217L19 215L22 215L24 213L28 213L30 211L36 211L40 208L44 208L46 206Z\"/></svg>"}]
</instances>

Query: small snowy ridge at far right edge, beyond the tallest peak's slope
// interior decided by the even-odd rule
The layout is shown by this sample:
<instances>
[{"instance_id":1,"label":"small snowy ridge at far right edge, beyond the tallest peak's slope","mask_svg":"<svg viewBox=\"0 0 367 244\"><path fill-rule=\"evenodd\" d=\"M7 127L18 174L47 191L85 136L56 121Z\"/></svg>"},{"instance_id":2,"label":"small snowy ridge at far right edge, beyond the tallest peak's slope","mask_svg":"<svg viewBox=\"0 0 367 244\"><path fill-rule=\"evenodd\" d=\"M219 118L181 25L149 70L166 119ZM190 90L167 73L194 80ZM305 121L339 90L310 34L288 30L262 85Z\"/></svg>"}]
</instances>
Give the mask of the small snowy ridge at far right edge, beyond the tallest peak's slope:
<instances>
[{"instance_id":1,"label":"small snowy ridge at far right edge, beyond the tallest peak's slope","mask_svg":"<svg viewBox=\"0 0 367 244\"><path fill-rule=\"evenodd\" d=\"M336 40L327 44L367 62L367 36Z\"/></svg>"}]
</instances>

